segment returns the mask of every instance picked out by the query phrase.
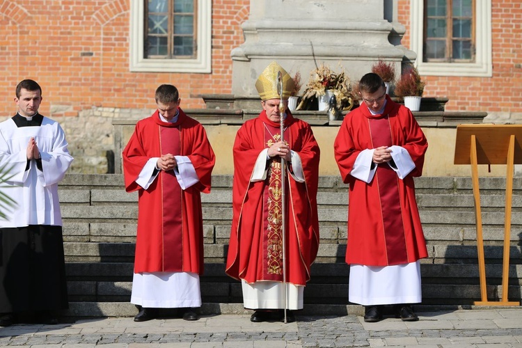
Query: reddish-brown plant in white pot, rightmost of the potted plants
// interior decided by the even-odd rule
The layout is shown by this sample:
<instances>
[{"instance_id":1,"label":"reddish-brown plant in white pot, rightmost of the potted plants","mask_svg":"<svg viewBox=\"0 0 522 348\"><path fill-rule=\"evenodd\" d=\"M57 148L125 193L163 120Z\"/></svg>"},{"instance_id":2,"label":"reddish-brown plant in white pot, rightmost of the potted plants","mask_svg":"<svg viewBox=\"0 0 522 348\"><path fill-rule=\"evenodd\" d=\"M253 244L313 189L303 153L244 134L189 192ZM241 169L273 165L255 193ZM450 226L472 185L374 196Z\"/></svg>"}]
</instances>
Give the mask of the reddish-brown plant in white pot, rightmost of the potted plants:
<instances>
[{"instance_id":1,"label":"reddish-brown plant in white pot, rightmost of the potted plants","mask_svg":"<svg viewBox=\"0 0 522 348\"><path fill-rule=\"evenodd\" d=\"M394 93L397 97L404 98L404 106L411 111L419 111L424 86L425 82L420 79L417 68L409 65L403 70L399 81L395 84Z\"/></svg>"}]
</instances>

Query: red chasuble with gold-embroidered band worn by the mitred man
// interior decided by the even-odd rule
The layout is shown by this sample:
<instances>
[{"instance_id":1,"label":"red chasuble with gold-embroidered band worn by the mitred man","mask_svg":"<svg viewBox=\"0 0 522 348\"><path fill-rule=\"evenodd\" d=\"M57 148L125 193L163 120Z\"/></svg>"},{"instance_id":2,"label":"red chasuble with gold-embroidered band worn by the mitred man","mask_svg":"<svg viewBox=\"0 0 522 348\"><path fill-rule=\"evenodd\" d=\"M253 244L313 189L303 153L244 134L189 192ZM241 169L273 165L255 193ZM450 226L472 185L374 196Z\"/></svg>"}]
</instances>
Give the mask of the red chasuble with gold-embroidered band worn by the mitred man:
<instances>
[{"instance_id":1,"label":"red chasuble with gold-embroidered band worn by the mitred man","mask_svg":"<svg viewBox=\"0 0 522 348\"><path fill-rule=\"evenodd\" d=\"M234 143L233 217L226 273L248 283L283 280L280 157L267 160L266 180L251 182L258 155L279 139L279 124L262 111L258 118L244 123ZM319 146L310 125L290 113L284 139L301 157L305 177L305 182L296 182L286 175L287 281L305 285L319 246Z\"/></svg>"}]
</instances>

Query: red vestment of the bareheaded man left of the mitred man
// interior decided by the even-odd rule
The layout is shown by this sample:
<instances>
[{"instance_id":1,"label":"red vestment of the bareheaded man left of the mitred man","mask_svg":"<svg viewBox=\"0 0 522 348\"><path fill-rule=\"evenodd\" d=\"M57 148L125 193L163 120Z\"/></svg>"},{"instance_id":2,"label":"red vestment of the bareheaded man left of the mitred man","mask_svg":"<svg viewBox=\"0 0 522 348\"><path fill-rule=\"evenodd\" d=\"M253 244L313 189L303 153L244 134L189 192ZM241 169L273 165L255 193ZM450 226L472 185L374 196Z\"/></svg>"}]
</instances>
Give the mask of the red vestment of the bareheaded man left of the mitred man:
<instances>
[{"instance_id":1,"label":"red vestment of the bareheaded man left of the mitred man","mask_svg":"<svg viewBox=\"0 0 522 348\"><path fill-rule=\"evenodd\" d=\"M182 190L173 171L160 171L148 189L136 184L147 161L167 153L189 157L199 182ZM136 123L122 155L125 190L139 191L134 272L203 274L200 192L210 192L215 161L203 126L181 109L174 123L156 111Z\"/></svg>"}]
</instances>

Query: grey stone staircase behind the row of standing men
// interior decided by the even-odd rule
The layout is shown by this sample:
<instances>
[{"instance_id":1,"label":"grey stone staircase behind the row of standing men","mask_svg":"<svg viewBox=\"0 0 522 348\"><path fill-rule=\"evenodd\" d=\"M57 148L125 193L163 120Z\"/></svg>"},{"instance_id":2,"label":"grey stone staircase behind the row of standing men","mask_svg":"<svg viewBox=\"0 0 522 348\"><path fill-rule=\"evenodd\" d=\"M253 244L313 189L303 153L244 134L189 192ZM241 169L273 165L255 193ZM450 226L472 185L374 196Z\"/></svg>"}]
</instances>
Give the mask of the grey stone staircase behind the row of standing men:
<instances>
[{"instance_id":1,"label":"grey stone staircase behind the row of standing men","mask_svg":"<svg viewBox=\"0 0 522 348\"><path fill-rule=\"evenodd\" d=\"M214 176L212 193L202 195L205 275L201 277L202 311L242 310L239 282L226 276L232 177ZM489 301L502 294L505 180L480 181ZM510 240L509 301L522 293L522 179L514 180ZM305 308L329 313L349 307L348 272L344 262L347 185L338 177L319 180L321 244ZM137 193L126 193L118 174L66 175L60 184L65 260L70 310L66 315L129 316ZM423 305L468 306L480 301L475 212L471 181L465 177L420 177L416 180L420 217L429 258L422 260ZM337 307L336 307L337 306Z\"/></svg>"}]
</instances>

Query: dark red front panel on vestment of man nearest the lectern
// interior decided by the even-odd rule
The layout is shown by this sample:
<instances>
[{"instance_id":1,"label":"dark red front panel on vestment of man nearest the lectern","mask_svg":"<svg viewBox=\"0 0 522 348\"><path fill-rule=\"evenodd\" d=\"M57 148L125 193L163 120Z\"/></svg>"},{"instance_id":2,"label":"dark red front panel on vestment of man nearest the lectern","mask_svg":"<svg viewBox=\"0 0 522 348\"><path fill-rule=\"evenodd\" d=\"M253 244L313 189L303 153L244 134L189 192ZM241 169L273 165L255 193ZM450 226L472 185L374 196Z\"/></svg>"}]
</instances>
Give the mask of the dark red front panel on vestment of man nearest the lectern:
<instances>
[{"instance_id":1,"label":"dark red front panel on vestment of man nearest the lectern","mask_svg":"<svg viewBox=\"0 0 522 348\"><path fill-rule=\"evenodd\" d=\"M373 148L393 145L390 120L388 116L368 119L372 134ZM406 239L402 210L399 195L399 178L397 173L387 163L377 166L375 174L381 198L382 224L386 241L388 264L405 264L408 262L406 254Z\"/></svg>"}]
</instances>

